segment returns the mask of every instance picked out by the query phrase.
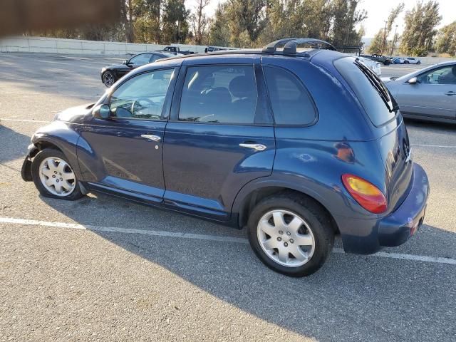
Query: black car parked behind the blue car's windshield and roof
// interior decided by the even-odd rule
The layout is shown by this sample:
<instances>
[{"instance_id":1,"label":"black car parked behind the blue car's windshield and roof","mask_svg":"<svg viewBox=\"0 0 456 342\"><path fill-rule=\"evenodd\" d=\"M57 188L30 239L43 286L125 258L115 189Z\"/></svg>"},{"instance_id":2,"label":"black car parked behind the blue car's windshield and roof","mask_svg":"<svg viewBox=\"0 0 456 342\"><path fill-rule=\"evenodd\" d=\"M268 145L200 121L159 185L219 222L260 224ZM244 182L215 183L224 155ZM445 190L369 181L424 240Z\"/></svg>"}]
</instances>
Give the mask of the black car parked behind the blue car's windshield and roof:
<instances>
[{"instance_id":1,"label":"black car parked behind the blue car's windshield and roof","mask_svg":"<svg viewBox=\"0 0 456 342\"><path fill-rule=\"evenodd\" d=\"M166 52L145 52L138 53L130 59L125 59L122 64L115 64L113 66L105 66L101 69L101 81L108 88L112 86L115 81L129 73L138 66L143 66L147 63L152 63L161 58L168 58L174 56L172 53Z\"/></svg>"}]
</instances>

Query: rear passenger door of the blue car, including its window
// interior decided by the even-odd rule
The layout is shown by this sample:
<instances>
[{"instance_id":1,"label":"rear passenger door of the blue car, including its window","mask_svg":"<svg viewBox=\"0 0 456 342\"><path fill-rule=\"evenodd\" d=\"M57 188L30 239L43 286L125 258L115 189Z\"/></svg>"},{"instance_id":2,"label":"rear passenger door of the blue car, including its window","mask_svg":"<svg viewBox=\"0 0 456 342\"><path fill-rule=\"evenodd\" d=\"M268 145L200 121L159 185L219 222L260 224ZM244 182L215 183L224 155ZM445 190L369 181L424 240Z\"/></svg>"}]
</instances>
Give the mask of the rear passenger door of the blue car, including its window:
<instances>
[{"instance_id":1,"label":"rear passenger door of the blue car, including its window","mask_svg":"<svg viewBox=\"0 0 456 342\"><path fill-rule=\"evenodd\" d=\"M237 62L181 68L163 146L165 204L223 222L275 154L259 58Z\"/></svg>"}]
</instances>

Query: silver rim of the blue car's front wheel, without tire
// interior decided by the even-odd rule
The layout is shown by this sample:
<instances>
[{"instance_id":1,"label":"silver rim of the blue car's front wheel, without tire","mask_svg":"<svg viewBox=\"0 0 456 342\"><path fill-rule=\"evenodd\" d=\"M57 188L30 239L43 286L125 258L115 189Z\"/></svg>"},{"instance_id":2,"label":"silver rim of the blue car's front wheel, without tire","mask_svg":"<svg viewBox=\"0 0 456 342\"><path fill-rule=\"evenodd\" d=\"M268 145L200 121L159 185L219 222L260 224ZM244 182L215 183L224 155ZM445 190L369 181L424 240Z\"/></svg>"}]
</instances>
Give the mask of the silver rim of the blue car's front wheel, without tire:
<instances>
[{"instance_id":1,"label":"silver rim of the blue car's front wheel, without tire","mask_svg":"<svg viewBox=\"0 0 456 342\"><path fill-rule=\"evenodd\" d=\"M70 165L56 157L41 162L40 180L48 192L61 197L70 195L76 187L76 177Z\"/></svg>"}]
</instances>

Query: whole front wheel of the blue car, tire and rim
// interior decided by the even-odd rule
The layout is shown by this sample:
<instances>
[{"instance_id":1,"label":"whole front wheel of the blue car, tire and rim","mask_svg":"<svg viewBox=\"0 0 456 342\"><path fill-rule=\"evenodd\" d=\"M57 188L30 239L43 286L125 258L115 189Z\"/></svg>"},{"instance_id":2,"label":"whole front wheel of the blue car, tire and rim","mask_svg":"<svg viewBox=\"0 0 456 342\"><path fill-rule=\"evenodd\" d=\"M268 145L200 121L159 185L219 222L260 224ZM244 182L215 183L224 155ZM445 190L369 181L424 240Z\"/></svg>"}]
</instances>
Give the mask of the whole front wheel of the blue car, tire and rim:
<instances>
[{"instance_id":1,"label":"whole front wheel of the blue car, tire and rim","mask_svg":"<svg viewBox=\"0 0 456 342\"><path fill-rule=\"evenodd\" d=\"M73 167L59 150L38 152L31 163L31 175L36 189L45 197L71 201L83 197Z\"/></svg>"}]
</instances>

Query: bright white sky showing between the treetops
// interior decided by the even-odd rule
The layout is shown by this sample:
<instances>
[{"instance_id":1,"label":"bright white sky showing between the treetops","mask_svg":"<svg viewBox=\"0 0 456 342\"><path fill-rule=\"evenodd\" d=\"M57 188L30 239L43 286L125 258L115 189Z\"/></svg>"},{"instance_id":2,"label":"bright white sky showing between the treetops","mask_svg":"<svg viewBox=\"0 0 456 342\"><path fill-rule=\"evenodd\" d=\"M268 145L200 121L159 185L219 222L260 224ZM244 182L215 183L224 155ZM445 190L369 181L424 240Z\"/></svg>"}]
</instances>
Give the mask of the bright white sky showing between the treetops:
<instances>
[{"instance_id":1,"label":"bright white sky showing between the treetops","mask_svg":"<svg viewBox=\"0 0 456 342\"><path fill-rule=\"evenodd\" d=\"M219 2L226 0L212 0L207 7L206 13L212 16L217 8ZM360 9L366 9L368 11L368 18L363 22L364 28L366 29L366 37L371 38L375 33L385 26L385 20L388 19L391 9L398 6L401 0L362 0ZM417 0L402 0L405 3L405 9L402 14L398 17L395 25L398 25L398 33L401 33L404 29L403 17L404 13L408 9L412 9L415 6ZM445 26L456 21L456 0L437 0L440 4L440 15L442 21L440 26ZM197 1L196 0L185 0L185 5L188 9L194 9ZM394 33L392 33L394 34Z\"/></svg>"}]
</instances>

